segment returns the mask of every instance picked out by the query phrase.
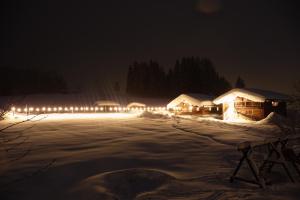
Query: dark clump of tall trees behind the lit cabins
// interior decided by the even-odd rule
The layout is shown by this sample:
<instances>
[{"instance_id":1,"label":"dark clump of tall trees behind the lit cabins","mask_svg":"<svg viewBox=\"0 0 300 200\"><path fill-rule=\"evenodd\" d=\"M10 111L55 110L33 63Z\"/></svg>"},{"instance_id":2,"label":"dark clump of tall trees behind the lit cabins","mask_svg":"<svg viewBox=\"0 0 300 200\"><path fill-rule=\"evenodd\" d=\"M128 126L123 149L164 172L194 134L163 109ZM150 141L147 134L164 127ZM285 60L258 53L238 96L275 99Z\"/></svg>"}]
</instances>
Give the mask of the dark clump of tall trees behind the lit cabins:
<instances>
[{"instance_id":1,"label":"dark clump of tall trees behind the lit cabins","mask_svg":"<svg viewBox=\"0 0 300 200\"><path fill-rule=\"evenodd\" d=\"M144 97L172 97L181 93L219 95L231 89L209 59L186 57L165 72L157 62L134 62L127 74L127 93Z\"/></svg>"}]
</instances>

